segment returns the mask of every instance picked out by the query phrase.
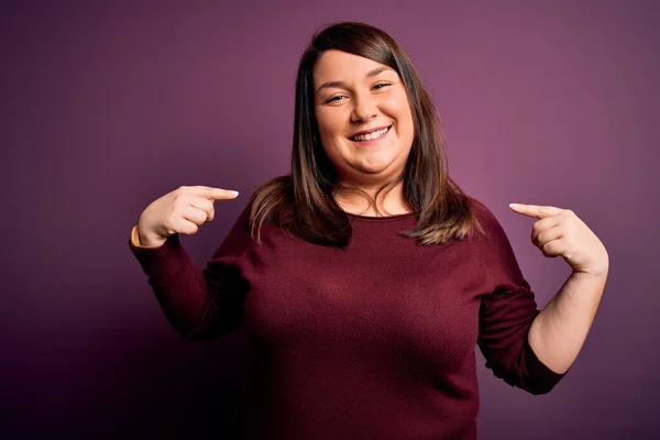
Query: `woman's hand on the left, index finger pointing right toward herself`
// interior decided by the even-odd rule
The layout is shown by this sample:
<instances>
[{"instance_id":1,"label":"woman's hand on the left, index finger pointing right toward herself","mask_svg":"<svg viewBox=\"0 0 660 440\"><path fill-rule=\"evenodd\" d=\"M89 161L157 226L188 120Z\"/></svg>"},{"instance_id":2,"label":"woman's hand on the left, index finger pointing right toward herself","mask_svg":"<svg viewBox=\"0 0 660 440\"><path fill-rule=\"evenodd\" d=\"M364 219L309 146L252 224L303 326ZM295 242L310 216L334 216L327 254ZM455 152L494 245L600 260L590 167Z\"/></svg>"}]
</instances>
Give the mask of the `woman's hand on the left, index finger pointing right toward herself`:
<instances>
[{"instance_id":1,"label":"woman's hand on the left, index finger pointing right toward herself","mask_svg":"<svg viewBox=\"0 0 660 440\"><path fill-rule=\"evenodd\" d=\"M140 216L140 244L160 248L175 233L193 235L200 226L212 221L213 201L231 200L239 193L208 186L182 186L154 200Z\"/></svg>"}]
</instances>

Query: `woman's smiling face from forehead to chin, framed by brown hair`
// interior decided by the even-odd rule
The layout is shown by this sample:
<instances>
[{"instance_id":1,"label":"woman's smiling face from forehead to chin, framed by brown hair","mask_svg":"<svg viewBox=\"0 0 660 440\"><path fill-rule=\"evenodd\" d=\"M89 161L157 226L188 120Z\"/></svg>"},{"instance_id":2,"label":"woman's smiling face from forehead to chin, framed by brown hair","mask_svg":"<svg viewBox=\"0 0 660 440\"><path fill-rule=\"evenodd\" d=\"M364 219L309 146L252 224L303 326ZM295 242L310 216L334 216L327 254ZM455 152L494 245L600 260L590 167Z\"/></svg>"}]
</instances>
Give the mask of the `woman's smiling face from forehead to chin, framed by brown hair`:
<instances>
[{"instance_id":1,"label":"woman's smiling face from forehead to chin, framed by brown hair","mask_svg":"<svg viewBox=\"0 0 660 440\"><path fill-rule=\"evenodd\" d=\"M314 70L315 114L340 179L356 185L398 177L413 145L413 113L398 74L340 51Z\"/></svg>"}]
</instances>

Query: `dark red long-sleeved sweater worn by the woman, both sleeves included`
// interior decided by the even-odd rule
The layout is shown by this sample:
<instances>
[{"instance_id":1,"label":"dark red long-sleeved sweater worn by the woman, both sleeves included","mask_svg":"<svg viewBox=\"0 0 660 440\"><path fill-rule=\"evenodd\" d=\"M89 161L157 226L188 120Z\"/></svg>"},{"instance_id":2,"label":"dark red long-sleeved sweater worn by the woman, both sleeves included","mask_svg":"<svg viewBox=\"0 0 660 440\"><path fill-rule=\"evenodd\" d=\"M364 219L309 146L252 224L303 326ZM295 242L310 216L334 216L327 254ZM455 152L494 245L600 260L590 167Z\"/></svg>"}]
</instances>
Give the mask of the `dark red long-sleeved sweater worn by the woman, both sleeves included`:
<instances>
[{"instance_id":1,"label":"dark red long-sleeved sweater worn by the woman, both sleeves included","mask_svg":"<svg viewBox=\"0 0 660 440\"><path fill-rule=\"evenodd\" d=\"M563 376L527 342L539 312L502 226L473 201L488 237L419 246L413 215L351 215L338 250L248 211L202 271L178 235L131 243L176 331L210 339L245 326L253 354L252 439L475 439L475 344L496 376L530 393Z\"/></svg>"}]
</instances>

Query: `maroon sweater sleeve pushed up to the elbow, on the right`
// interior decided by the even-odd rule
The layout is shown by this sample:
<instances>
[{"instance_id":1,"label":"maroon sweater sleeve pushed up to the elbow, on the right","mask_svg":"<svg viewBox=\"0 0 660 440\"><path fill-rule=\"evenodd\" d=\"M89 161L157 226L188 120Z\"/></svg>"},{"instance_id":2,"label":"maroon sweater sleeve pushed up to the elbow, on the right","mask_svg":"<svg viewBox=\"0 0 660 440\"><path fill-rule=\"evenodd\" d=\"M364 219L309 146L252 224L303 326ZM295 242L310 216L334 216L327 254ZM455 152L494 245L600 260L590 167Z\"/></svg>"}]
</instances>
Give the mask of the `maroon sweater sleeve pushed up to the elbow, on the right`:
<instances>
[{"instance_id":1,"label":"maroon sweater sleeve pushed up to the elbow, on the right","mask_svg":"<svg viewBox=\"0 0 660 440\"><path fill-rule=\"evenodd\" d=\"M535 295L502 224L481 202L475 204L475 213L487 235L474 242L487 274L477 341L486 367L512 386L531 394L549 393L566 373L546 366L529 344L529 328L540 312Z\"/></svg>"}]
</instances>

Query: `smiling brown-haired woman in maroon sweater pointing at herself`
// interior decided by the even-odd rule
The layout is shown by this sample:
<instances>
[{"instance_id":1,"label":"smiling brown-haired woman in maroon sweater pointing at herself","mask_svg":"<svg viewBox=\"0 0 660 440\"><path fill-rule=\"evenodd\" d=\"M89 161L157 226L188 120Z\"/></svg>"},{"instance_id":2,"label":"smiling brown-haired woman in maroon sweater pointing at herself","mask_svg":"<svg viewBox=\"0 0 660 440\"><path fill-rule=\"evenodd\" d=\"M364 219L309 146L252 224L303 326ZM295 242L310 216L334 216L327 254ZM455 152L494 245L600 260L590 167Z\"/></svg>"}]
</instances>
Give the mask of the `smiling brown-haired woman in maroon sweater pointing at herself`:
<instances>
[{"instance_id":1,"label":"smiling brown-haired woman in maroon sweater pointing at herself","mask_svg":"<svg viewBox=\"0 0 660 440\"><path fill-rule=\"evenodd\" d=\"M180 187L131 249L184 338L244 326L250 438L474 439L474 346L508 384L547 393L592 323L607 253L570 210L519 206L573 273L539 311L493 213L448 176L439 122L385 32L314 36L296 82L289 176L258 188L201 271L178 234L235 191Z\"/></svg>"}]
</instances>

